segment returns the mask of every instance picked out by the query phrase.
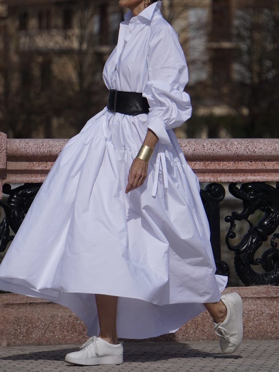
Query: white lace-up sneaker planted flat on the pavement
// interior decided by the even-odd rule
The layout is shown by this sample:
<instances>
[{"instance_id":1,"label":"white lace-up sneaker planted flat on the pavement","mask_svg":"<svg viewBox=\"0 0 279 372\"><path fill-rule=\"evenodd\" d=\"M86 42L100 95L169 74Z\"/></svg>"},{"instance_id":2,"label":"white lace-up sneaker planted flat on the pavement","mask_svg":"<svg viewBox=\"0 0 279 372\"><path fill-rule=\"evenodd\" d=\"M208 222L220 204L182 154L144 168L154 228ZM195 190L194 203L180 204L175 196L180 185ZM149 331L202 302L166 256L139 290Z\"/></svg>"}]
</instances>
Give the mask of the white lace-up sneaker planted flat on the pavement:
<instances>
[{"instance_id":1,"label":"white lace-up sneaker planted flat on the pavement","mask_svg":"<svg viewBox=\"0 0 279 372\"><path fill-rule=\"evenodd\" d=\"M114 345L100 337L90 337L80 351L68 353L65 362L80 366L94 366L99 364L122 364L123 344Z\"/></svg>"}]
</instances>

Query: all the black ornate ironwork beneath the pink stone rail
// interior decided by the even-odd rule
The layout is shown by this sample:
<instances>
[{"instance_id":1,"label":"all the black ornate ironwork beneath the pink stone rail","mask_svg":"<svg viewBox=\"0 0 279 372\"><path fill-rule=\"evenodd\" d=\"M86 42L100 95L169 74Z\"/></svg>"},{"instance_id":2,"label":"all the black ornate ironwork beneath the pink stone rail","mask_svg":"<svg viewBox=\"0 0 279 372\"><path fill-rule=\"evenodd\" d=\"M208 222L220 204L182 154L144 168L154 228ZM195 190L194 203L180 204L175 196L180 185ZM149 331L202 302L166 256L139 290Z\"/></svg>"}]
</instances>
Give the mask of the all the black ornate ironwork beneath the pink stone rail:
<instances>
[{"instance_id":1,"label":"all the black ornate ironwork beneath the pink stone rail","mask_svg":"<svg viewBox=\"0 0 279 372\"><path fill-rule=\"evenodd\" d=\"M11 188L9 184L3 185L3 193L9 195L7 202L0 202L4 210L4 218L0 223L0 251L4 251L9 241L13 239L10 228L14 233L19 229L36 193L42 183L25 183L22 186ZM276 187L264 182L243 183L240 188L237 183L230 183L229 191L235 198L243 202L241 213L232 212L225 221L230 223L225 242L228 249L234 251L235 271L244 285L279 285L279 250L277 242L279 233L279 182ZM209 183L201 190L201 198L211 230L211 245L216 263L216 273L230 275L228 264L221 260L220 238L220 202L225 198L225 189L219 183ZM256 225L250 221L250 216L256 211L264 212ZM246 221L248 231L233 246L231 240L236 237L235 221ZM264 241L270 237L271 248L264 251L261 258L255 258L256 252L262 247ZM264 273L258 273L252 266L261 265Z\"/></svg>"}]
</instances>

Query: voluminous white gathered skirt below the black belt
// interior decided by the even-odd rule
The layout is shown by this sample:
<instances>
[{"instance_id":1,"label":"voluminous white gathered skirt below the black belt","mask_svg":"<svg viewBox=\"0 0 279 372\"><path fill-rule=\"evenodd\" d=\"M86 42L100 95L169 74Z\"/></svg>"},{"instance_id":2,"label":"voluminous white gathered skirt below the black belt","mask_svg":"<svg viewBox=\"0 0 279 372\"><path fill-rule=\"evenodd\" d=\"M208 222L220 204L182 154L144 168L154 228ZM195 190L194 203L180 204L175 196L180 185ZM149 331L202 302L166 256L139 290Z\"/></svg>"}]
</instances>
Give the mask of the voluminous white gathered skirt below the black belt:
<instances>
[{"instance_id":1,"label":"voluminous white gathered skirt below the black belt","mask_svg":"<svg viewBox=\"0 0 279 372\"><path fill-rule=\"evenodd\" d=\"M58 155L0 265L0 289L49 299L99 332L94 294L118 296L118 337L171 333L217 302L198 179L173 131L154 185L157 145L144 184L125 193L146 134L146 114L103 109Z\"/></svg>"}]
</instances>

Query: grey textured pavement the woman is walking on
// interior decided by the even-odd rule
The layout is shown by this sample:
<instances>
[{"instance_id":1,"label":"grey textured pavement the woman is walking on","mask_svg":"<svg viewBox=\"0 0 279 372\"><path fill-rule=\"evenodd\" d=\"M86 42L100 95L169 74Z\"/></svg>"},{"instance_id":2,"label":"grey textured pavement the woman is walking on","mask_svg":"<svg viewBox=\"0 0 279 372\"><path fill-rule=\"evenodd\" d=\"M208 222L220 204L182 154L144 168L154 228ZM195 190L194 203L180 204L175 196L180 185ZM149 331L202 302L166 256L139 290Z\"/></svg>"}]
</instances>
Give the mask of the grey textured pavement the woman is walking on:
<instances>
[{"instance_id":1,"label":"grey textured pavement the woman is walking on","mask_svg":"<svg viewBox=\"0 0 279 372\"><path fill-rule=\"evenodd\" d=\"M224 355L218 341L124 343L119 366L74 366L64 362L80 345L1 346L0 372L278 372L279 340L243 341L236 354Z\"/></svg>"}]
</instances>

